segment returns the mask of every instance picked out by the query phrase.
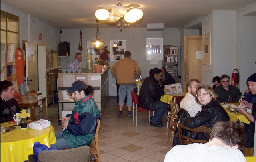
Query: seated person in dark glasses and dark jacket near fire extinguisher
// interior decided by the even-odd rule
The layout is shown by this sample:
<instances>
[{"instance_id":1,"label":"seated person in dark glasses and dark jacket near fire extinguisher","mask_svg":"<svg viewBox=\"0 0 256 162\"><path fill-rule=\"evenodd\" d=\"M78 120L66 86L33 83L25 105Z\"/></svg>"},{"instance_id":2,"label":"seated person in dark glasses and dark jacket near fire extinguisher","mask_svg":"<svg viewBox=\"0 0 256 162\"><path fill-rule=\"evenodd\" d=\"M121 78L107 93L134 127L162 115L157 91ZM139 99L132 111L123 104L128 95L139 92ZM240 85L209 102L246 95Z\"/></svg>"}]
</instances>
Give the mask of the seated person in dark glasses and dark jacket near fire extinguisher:
<instances>
[{"instance_id":1,"label":"seated person in dark glasses and dark jacket near fire extinguisher","mask_svg":"<svg viewBox=\"0 0 256 162\"><path fill-rule=\"evenodd\" d=\"M217 101L219 103L238 103L240 96L243 95L237 87L230 85L229 81L230 77L223 74L220 77L221 86L214 89L214 91L218 94Z\"/></svg>"}]
</instances>

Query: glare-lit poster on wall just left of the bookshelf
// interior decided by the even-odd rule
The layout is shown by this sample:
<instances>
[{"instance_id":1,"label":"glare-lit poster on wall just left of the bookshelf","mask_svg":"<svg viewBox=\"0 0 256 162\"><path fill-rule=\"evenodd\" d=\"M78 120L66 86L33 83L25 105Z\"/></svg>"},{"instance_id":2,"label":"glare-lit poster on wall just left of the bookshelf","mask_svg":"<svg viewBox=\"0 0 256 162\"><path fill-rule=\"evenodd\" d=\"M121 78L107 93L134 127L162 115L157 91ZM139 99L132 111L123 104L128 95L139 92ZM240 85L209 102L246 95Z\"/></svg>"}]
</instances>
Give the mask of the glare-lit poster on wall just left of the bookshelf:
<instances>
[{"instance_id":1,"label":"glare-lit poster on wall just left of the bookshelf","mask_svg":"<svg viewBox=\"0 0 256 162\"><path fill-rule=\"evenodd\" d=\"M147 38L147 60L163 59L163 38Z\"/></svg>"}]
</instances>

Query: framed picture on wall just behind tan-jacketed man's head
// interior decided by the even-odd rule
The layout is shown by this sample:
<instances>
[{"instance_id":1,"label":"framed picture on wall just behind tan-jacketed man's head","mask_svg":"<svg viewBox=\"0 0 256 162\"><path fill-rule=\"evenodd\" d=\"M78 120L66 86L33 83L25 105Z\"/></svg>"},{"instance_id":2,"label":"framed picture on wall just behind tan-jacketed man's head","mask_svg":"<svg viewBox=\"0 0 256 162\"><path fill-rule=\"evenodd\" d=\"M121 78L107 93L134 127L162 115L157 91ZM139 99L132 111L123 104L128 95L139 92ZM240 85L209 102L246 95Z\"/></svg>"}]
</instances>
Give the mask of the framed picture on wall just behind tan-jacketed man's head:
<instances>
[{"instance_id":1,"label":"framed picture on wall just behind tan-jacketed man's head","mask_svg":"<svg viewBox=\"0 0 256 162\"><path fill-rule=\"evenodd\" d=\"M126 40L112 40L110 41L110 61L118 61L124 59L124 52L126 51Z\"/></svg>"}]
</instances>

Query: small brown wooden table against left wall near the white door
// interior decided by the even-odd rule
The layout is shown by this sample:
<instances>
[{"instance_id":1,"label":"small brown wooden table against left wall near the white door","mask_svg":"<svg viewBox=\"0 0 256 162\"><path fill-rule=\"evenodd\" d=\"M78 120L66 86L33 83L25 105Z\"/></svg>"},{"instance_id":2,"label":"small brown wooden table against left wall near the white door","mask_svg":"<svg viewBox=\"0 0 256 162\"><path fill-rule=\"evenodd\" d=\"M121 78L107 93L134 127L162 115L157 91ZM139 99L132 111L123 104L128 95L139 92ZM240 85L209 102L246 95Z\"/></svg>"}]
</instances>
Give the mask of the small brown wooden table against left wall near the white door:
<instances>
[{"instance_id":1,"label":"small brown wooden table against left wall near the white door","mask_svg":"<svg viewBox=\"0 0 256 162\"><path fill-rule=\"evenodd\" d=\"M31 117L30 119L32 121L35 120L35 107L38 107L39 105L43 105L43 118L46 119L46 100L45 97L42 97L41 99L39 99L36 102L33 103L24 103L24 102L18 102L18 105L20 108L28 108L31 110Z\"/></svg>"}]
</instances>

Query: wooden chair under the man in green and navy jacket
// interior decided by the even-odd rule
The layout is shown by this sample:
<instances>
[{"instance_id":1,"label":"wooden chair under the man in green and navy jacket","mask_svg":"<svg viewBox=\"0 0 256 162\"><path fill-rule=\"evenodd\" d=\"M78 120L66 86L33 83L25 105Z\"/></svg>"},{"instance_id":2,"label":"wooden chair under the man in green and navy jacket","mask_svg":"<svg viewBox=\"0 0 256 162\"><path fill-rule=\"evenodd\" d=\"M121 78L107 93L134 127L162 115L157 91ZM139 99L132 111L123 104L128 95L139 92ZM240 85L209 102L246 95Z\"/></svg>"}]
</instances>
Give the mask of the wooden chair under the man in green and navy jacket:
<instances>
[{"instance_id":1,"label":"wooden chair under the man in green and navy jacket","mask_svg":"<svg viewBox=\"0 0 256 162\"><path fill-rule=\"evenodd\" d=\"M97 157L98 162L100 162L100 150L99 150L99 143L98 143L99 130L100 130L100 119L97 120L97 128L96 128L95 136L92 139L92 144L90 145L91 152ZM91 147L92 145L94 146L93 148Z\"/></svg>"}]
</instances>

